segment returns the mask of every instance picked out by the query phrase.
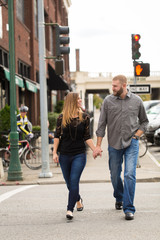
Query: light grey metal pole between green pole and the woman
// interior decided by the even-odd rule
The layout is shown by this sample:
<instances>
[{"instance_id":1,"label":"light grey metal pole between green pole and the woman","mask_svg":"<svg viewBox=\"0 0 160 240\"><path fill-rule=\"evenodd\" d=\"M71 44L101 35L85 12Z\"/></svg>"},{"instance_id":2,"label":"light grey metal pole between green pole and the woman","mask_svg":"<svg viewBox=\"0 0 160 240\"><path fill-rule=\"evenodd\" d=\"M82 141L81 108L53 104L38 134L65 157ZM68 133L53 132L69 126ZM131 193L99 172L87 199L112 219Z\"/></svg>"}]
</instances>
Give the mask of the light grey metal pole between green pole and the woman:
<instances>
[{"instance_id":1,"label":"light grey metal pole between green pole and the woman","mask_svg":"<svg viewBox=\"0 0 160 240\"><path fill-rule=\"evenodd\" d=\"M42 144L42 172L40 178L52 177L49 168L48 143L48 104L45 62L45 32L44 32L44 3L38 0L38 37L39 37L39 79L40 79L40 112L41 112L41 144Z\"/></svg>"}]
</instances>

